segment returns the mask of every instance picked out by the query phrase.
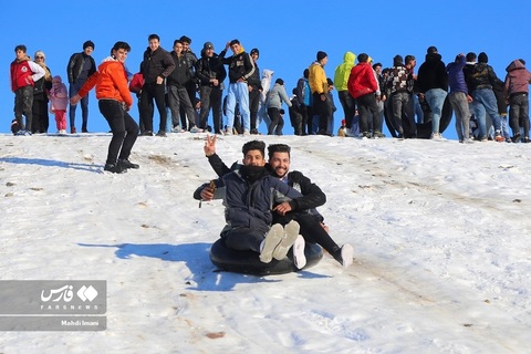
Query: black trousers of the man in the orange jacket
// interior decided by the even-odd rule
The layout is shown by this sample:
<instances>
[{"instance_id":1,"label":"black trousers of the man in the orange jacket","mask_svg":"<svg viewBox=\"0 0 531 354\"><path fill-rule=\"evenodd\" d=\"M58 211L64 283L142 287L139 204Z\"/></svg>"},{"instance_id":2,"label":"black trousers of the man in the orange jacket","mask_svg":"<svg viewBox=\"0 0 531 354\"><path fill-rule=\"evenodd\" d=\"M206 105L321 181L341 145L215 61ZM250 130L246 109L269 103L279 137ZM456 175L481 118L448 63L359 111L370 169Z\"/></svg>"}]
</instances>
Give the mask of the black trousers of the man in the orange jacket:
<instances>
[{"instance_id":1,"label":"black trousers of the man in the orange jacket","mask_svg":"<svg viewBox=\"0 0 531 354\"><path fill-rule=\"evenodd\" d=\"M108 123L113 133L106 164L115 165L117 159L127 159L131 149L138 137L138 125L135 119L124 110L121 102L116 100L100 100L97 103L100 112Z\"/></svg>"}]
</instances>

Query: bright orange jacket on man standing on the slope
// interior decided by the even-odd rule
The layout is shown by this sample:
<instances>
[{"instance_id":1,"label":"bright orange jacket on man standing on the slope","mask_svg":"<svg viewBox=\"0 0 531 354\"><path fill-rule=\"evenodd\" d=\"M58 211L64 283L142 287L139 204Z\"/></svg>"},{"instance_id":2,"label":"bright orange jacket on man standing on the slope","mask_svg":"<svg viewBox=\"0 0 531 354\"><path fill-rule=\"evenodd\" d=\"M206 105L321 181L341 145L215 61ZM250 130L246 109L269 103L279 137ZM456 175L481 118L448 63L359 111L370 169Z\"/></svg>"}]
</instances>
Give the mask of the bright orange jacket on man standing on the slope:
<instances>
[{"instance_id":1,"label":"bright orange jacket on man standing on the slope","mask_svg":"<svg viewBox=\"0 0 531 354\"><path fill-rule=\"evenodd\" d=\"M88 76L77 94L84 97L88 91L96 86L97 100L116 100L131 107L133 97L127 84L124 64L115 60L107 60L100 64L94 74Z\"/></svg>"}]
</instances>

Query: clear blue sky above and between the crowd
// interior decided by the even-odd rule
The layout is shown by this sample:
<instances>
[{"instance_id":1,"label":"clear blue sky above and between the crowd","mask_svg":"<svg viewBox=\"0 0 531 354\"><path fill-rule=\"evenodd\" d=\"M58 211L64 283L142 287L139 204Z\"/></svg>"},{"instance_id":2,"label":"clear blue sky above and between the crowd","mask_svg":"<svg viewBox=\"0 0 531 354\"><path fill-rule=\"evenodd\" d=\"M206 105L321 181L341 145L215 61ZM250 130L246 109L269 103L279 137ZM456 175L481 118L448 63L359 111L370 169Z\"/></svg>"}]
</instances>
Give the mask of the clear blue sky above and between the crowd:
<instances>
[{"instance_id":1,"label":"clear blue sky above and between the crowd","mask_svg":"<svg viewBox=\"0 0 531 354\"><path fill-rule=\"evenodd\" d=\"M2 3L0 13L0 29L4 33L0 66L6 70L4 84L0 85L0 132L9 132L13 116L9 65L17 44L25 44L31 56L37 50L44 51L52 74L65 80L70 55L81 52L86 40L95 43L96 63L108 55L114 42L128 42L132 52L126 64L136 72L150 33L160 37L166 50L171 50L174 40L186 34L191 38L191 49L197 54L206 41L212 42L219 52L227 41L236 38L247 51L258 48L260 70L273 70L274 77L283 79L291 93L317 51L329 54L325 66L329 77L333 77L346 51L356 55L365 52L384 67L391 66L396 54L413 54L420 65L430 45L438 48L445 63L461 52L483 51L503 80L504 69L512 60L521 58L531 63L530 23L527 0L481 3L456 0L9 1ZM337 127L343 111L336 95L334 98L339 108ZM107 132L94 92L90 100L88 129ZM136 108L132 115L138 117ZM76 122L81 126L81 114ZM157 114L155 122L158 122ZM54 132L53 117L50 125ZM263 123L261 131L264 131ZM288 123L284 134L291 133ZM456 138L454 119L445 136Z\"/></svg>"}]
</instances>

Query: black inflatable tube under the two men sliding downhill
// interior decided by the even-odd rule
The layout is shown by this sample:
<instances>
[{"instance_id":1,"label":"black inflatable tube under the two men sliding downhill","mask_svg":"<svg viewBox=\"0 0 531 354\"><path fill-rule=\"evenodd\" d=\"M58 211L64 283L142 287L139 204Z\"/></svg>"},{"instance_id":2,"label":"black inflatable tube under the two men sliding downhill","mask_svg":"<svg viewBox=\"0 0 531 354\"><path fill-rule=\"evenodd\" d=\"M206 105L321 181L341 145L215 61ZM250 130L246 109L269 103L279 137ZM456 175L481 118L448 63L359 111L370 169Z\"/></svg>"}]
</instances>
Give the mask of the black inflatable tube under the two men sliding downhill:
<instances>
[{"instance_id":1,"label":"black inflatable tube under the two men sliding downhill","mask_svg":"<svg viewBox=\"0 0 531 354\"><path fill-rule=\"evenodd\" d=\"M319 244L306 243L304 256L306 257L306 266L302 270L317 264L323 258L323 250ZM225 244L222 239L218 239L210 248L210 261L219 269L229 272L259 277L284 274L301 270L293 264L291 252L283 260L278 261L273 259L269 263L262 263L257 252L232 250Z\"/></svg>"}]
</instances>

